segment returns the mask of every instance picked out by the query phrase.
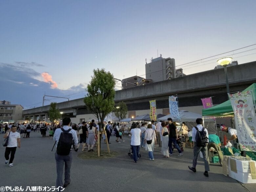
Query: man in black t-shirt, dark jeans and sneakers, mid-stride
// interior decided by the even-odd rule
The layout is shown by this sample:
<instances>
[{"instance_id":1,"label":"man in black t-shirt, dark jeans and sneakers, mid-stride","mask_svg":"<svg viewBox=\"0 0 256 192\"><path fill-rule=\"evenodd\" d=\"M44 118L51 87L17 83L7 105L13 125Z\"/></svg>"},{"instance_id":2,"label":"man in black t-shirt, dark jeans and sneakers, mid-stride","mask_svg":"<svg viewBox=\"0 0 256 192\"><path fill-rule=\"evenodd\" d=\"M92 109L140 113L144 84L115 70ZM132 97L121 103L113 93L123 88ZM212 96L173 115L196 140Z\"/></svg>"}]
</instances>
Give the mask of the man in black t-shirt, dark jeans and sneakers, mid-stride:
<instances>
[{"instance_id":1,"label":"man in black t-shirt, dark jeans and sneakers, mid-stride","mask_svg":"<svg viewBox=\"0 0 256 192\"><path fill-rule=\"evenodd\" d=\"M176 142L176 139L178 138L178 131L176 126L173 124L172 122L172 118L168 118L168 123L169 123L169 152L170 155L172 155L172 143L175 145L175 147L178 149L179 151L179 155L178 156L182 156L183 153L179 147L179 145Z\"/></svg>"}]
</instances>

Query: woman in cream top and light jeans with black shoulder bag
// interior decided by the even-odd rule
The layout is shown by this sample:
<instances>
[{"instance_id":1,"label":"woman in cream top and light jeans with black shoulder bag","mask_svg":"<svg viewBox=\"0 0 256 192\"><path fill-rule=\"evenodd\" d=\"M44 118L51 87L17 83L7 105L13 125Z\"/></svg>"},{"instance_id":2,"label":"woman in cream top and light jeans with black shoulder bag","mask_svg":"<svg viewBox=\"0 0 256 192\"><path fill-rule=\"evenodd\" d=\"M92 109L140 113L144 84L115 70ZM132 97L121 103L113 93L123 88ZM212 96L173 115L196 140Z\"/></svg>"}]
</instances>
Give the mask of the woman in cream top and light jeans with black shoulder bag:
<instances>
[{"instance_id":1,"label":"woman in cream top and light jeans with black shoulder bag","mask_svg":"<svg viewBox=\"0 0 256 192\"><path fill-rule=\"evenodd\" d=\"M150 140L152 141L150 144L148 144L147 142ZM157 144L157 138L156 138L155 131L152 129L152 124L149 124L148 128L145 131L144 142L146 144L145 150L148 151L149 160L154 160L153 151L154 151L155 144Z\"/></svg>"}]
</instances>

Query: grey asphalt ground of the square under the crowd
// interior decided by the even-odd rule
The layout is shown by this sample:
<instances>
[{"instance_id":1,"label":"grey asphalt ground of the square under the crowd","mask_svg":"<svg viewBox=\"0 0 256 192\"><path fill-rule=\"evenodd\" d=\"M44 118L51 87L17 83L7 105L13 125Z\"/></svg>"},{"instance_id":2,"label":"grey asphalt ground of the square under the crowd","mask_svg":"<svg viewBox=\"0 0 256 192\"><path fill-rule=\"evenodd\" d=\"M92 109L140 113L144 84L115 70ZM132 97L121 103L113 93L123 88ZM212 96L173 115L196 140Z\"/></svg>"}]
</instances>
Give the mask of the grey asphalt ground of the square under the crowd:
<instances>
[{"instance_id":1,"label":"grey asphalt ground of the square under the crowd","mask_svg":"<svg viewBox=\"0 0 256 192\"><path fill-rule=\"evenodd\" d=\"M2 135L0 135L2 138ZM111 137L111 150L119 155L104 160L83 160L73 151L71 184L64 191L87 192L255 192L256 184L240 184L236 180L222 175L222 167L211 163L209 178L203 176L203 161L198 161L197 172L188 170L192 164L192 150L185 148L184 155L175 153L169 159L162 158L160 148L154 152L154 161L150 161L147 152L140 150L141 159L134 163L128 156L129 138L117 143ZM41 138L39 133L31 133L31 138L21 140L17 149L13 167L4 163L4 147L0 147L0 186L54 186L56 166L54 152L51 152L53 140ZM102 145L103 149L106 146ZM88 152L85 152L88 153ZM25 190L24 190L25 191Z\"/></svg>"}]
</instances>

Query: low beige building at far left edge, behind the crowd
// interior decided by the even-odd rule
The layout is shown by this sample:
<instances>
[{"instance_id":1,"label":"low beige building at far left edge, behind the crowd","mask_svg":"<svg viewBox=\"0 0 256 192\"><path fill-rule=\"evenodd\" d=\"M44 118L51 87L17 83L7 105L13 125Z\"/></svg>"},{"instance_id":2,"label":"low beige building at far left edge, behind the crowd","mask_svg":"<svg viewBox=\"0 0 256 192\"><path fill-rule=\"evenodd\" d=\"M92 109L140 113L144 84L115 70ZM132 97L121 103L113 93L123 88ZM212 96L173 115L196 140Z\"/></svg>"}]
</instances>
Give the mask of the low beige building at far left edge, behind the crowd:
<instances>
[{"instance_id":1,"label":"low beige building at far left edge, behind the crowd","mask_svg":"<svg viewBox=\"0 0 256 192\"><path fill-rule=\"evenodd\" d=\"M14 122L22 119L22 110L21 105L9 105L9 104L0 104L0 121L8 122L13 120Z\"/></svg>"}]
</instances>

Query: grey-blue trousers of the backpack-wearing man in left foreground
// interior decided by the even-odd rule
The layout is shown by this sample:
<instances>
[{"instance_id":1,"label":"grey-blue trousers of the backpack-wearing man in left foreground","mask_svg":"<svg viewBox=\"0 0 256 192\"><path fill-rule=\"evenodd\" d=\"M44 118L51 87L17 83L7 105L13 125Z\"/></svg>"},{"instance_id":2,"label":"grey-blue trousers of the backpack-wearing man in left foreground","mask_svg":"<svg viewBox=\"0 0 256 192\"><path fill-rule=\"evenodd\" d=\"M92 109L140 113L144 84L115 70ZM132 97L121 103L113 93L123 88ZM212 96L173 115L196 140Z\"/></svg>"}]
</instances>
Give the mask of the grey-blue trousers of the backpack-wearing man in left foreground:
<instances>
[{"instance_id":1,"label":"grey-blue trousers of the backpack-wearing man in left foreground","mask_svg":"<svg viewBox=\"0 0 256 192\"><path fill-rule=\"evenodd\" d=\"M70 180L70 168L72 164L72 151L70 151L69 155L58 155L55 153L56 160L56 169L57 169L57 179L56 179L56 187L63 187L63 167L65 163L65 184L69 183Z\"/></svg>"}]
</instances>

